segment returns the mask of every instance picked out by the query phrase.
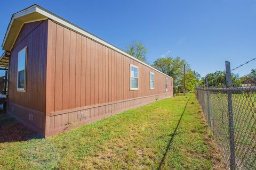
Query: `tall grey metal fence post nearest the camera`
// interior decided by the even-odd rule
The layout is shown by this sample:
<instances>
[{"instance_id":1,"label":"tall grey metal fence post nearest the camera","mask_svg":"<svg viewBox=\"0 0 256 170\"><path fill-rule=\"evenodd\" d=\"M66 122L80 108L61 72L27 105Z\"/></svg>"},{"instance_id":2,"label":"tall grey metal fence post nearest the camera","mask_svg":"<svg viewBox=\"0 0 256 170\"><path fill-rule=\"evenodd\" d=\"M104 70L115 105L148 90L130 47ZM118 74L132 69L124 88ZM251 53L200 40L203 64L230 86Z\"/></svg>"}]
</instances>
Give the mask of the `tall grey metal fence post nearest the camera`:
<instances>
[{"instance_id":1,"label":"tall grey metal fence post nearest the camera","mask_svg":"<svg viewBox=\"0 0 256 170\"><path fill-rule=\"evenodd\" d=\"M230 139L230 169L236 168L235 161L235 139L234 139L234 125L233 125L233 108L232 108L232 93L231 93L231 72L230 63L226 64L226 82L227 82L227 94L228 94L228 119L229 119L229 139Z\"/></svg>"}]
</instances>

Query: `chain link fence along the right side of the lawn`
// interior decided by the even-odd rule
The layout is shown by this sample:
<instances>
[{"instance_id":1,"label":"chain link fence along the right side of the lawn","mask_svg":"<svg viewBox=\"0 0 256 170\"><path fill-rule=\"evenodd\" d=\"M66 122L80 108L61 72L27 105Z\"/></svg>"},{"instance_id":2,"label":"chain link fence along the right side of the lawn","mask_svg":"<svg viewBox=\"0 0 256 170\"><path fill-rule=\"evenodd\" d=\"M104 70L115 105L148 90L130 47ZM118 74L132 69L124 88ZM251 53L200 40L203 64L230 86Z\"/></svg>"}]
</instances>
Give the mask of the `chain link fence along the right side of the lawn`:
<instances>
[{"instance_id":1,"label":"chain link fence along the right side of the lawn","mask_svg":"<svg viewBox=\"0 0 256 170\"><path fill-rule=\"evenodd\" d=\"M196 97L223 162L230 169L256 169L256 87L198 87Z\"/></svg>"}]
</instances>

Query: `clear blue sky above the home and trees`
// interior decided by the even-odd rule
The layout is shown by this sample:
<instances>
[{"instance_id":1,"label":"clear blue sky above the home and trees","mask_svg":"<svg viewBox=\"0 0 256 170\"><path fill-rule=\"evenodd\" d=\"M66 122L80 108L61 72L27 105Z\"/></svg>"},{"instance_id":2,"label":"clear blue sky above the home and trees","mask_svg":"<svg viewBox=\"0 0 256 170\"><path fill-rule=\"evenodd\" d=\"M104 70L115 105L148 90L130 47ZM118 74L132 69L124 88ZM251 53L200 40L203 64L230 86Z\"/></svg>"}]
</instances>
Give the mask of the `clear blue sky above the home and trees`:
<instances>
[{"instance_id":1,"label":"clear blue sky above the home and trees","mask_svg":"<svg viewBox=\"0 0 256 170\"><path fill-rule=\"evenodd\" d=\"M179 56L202 76L224 70L225 60L233 68L256 57L256 1L2 0L0 4L1 43L12 14L38 4L118 48L140 41L148 49L150 63L162 56ZM235 73L247 74L255 65Z\"/></svg>"}]
</instances>

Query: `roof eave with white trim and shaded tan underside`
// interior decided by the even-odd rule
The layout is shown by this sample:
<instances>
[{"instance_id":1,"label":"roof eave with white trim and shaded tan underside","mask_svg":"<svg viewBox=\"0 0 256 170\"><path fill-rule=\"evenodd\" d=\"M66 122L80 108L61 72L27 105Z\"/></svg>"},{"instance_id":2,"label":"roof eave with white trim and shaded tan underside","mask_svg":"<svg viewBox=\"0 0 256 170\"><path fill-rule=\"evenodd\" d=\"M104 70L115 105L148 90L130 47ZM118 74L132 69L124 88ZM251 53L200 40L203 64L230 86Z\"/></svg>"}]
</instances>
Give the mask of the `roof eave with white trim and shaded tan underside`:
<instances>
[{"instance_id":1,"label":"roof eave with white trim and shaded tan underside","mask_svg":"<svg viewBox=\"0 0 256 170\"><path fill-rule=\"evenodd\" d=\"M155 70L155 71L157 71L161 74L164 74L163 72L161 72L161 71L155 69L154 67L138 60L137 58L131 56L130 54L125 53L123 50L117 48L116 46L107 43L105 40L102 40L101 38L99 38L97 36L94 36L92 33L85 31L84 29L76 26L75 24L73 24L73 23L71 23L71 22L69 22L65 19L62 19L60 16L55 15L55 14L51 13L50 11L47 11L44 8L42 8L41 6L38 6L38 5L30 6L30 7L26 8L25 10L22 10L20 12L17 12L15 14L13 14L13 16L11 18L11 22L10 22L8 28L7 28L6 33L5 33L2 48L5 51L11 51L23 24L29 23L29 22L35 22L35 21L39 21L39 20L45 20L45 19L51 19L54 22L57 22L57 23L63 25L63 27L67 27L67 28L69 28L69 29L71 29L71 30L73 30L77 33L80 33L80 34L82 34L83 36L85 36L87 38L90 38L94 41L97 41L98 43L100 43L102 45L105 45L105 46L107 46L111 49L114 49L117 52L119 52L119 53L121 53L121 54L123 54L127 57L130 57L133 60L135 60L135 61L137 61L137 62L139 62L143 65L146 65L146 66L150 67L151 69L153 69L153 70ZM13 25L14 25L14 27L12 27ZM13 32L13 33L11 33L11 36L10 36L10 32ZM172 78L167 74L164 74L164 75L166 75L166 77Z\"/></svg>"}]
</instances>

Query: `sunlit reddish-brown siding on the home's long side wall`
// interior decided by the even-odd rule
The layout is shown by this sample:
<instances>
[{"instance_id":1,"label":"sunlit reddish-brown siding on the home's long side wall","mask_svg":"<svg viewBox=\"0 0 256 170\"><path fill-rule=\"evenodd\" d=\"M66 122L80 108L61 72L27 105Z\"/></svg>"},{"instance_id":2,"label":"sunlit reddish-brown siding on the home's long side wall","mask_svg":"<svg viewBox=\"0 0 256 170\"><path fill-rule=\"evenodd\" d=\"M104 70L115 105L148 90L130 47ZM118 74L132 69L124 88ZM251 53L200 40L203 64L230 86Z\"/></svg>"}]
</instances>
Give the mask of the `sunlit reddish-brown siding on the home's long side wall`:
<instances>
[{"instance_id":1,"label":"sunlit reddish-brown siding on the home's long side wall","mask_svg":"<svg viewBox=\"0 0 256 170\"><path fill-rule=\"evenodd\" d=\"M50 112L172 92L171 78L49 20ZM139 90L130 90L130 64L139 67ZM150 90L150 72L155 89ZM168 78L168 91L165 91ZM47 98L48 99L48 98ZM50 102L49 102L50 103ZM97 108L98 109L98 108ZM95 112L101 114L103 111Z\"/></svg>"}]
</instances>

